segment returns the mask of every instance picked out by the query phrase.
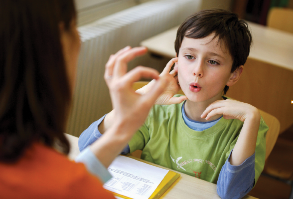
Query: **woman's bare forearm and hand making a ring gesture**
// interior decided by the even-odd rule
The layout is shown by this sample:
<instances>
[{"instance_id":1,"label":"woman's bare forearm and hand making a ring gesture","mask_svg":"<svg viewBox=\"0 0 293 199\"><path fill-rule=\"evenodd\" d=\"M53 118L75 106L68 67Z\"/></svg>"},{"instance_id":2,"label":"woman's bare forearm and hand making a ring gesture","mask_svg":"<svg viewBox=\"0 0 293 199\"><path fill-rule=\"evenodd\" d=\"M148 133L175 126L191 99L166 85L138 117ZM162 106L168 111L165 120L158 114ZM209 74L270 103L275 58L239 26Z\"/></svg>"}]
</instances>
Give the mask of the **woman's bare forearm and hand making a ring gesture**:
<instances>
[{"instance_id":1,"label":"woman's bare forearm and hand making a ring gesture","mask_svg":"<svg viewBox=\"0 0 293 199\"><path fill-rule=\"evenodd\" d=\"M145 47L126 47L111 55L106 64L104 78L109 87L115 114L110 114L112 124L106 125L104 135L90 146L90 150L106 168L143 125L151 106L166 87L166 80L159 77L154 69L136 67L127 73L127 63L145 52ZM139 94L132 89L132 85L143 77L155 81L148 92Z\"/></svg>"}]
</instances>

